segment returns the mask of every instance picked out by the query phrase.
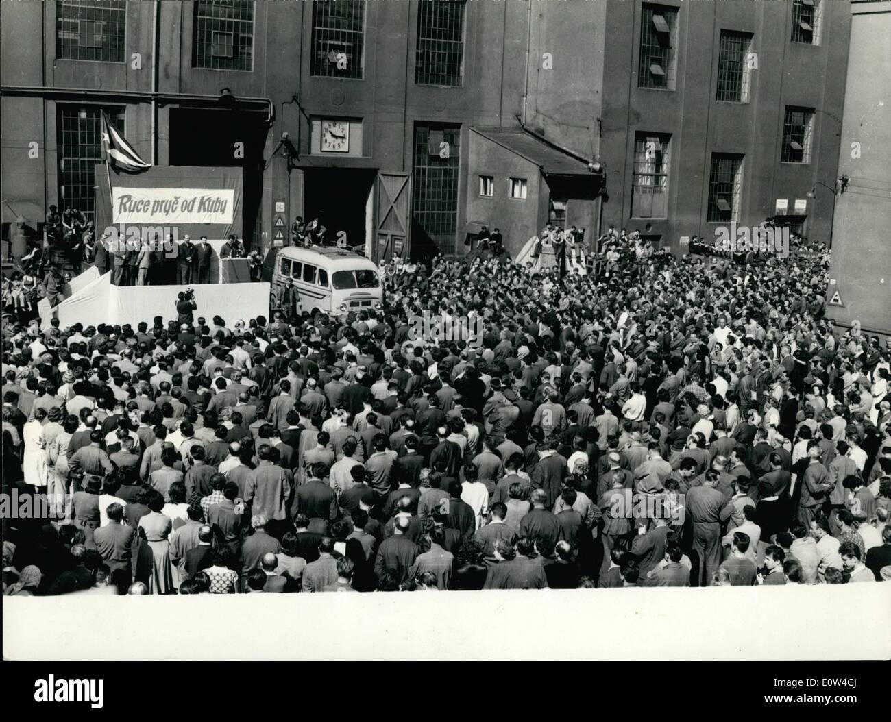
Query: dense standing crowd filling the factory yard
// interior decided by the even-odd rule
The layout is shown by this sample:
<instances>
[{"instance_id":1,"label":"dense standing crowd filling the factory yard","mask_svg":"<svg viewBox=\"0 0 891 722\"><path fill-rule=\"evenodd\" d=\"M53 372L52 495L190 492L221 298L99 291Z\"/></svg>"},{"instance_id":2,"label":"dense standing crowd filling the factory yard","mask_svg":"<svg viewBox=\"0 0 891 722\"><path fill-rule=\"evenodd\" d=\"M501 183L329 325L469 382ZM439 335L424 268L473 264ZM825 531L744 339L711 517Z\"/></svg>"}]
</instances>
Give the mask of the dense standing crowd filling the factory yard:
<instances>
[{"instance_id":1,"label":"dense standing crowd filling the factory yard","mask_svg":"<svg viewBox=\"0 0 891 722\"><path fill-rule=\"evenodd\" d=\"M822 258L605 246L315 325L5 317L4 492L53 518L4 518L4 594L887 580L891 342L823 317Z\"/></svg>"}]
</instances>

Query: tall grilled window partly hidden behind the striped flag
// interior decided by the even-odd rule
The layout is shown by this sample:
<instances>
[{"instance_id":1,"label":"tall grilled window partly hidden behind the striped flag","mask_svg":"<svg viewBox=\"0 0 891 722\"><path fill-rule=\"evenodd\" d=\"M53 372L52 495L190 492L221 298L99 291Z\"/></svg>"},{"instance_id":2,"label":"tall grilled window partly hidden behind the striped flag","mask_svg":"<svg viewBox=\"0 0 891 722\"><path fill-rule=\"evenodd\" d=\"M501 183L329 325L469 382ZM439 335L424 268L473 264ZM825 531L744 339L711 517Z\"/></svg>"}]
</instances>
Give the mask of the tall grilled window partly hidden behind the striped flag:
<instances>
[{"instance_id":1,"label":"tall grilled window partly hidden behind the striped flag","mask_svg":"<svg viewBox=\"0 0 891 722\"><path fill-rule=\"evenodd\" d=\"M78 208L94 220L95 165L102 163L102 110L124 134L124 109L98 105L59 105L59 207ZM100 179L104 182L104 179Z\"/></svg>"}]
</instances>

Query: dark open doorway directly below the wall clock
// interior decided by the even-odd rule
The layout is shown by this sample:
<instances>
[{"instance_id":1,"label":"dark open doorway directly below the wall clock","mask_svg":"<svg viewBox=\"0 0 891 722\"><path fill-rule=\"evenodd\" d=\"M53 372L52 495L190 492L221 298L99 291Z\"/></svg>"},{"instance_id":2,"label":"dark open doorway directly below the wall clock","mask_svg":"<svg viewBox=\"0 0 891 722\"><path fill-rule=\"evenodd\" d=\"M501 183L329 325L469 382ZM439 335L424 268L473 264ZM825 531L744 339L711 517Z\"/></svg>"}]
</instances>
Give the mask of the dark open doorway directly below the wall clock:
<instances>
[{"instance_id":1,"label":"dark open doorway directly below the wall clock","mask_svg":"<svg viewBox=\"0 0 891 722\"><path fill-rule=\"evenodd\" d=\"M376 170L369 168L307 168L304 174L303 219L318 218L328 229L330 243L342 239L363 249L372 227L368 202Z\"/></svg>"}]
</instances>

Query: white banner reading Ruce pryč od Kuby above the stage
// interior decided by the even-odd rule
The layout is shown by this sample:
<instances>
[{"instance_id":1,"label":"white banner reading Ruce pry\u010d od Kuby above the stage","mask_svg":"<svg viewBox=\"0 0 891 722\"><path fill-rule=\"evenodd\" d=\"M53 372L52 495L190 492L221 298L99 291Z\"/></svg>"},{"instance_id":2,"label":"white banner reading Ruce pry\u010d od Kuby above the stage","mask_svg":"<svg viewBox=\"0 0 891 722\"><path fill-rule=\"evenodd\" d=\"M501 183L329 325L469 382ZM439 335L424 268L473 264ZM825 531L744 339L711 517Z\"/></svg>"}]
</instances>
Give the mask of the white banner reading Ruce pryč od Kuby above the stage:
<instances>
[{"instance_id":1,"label":"white banner reading Ruce pry\u010d od Kuby above the stage","mask_svg":"<svg viewBox=\"0 0 891 722\"><path fill-rule=\"evenodd\" d=\"M233 222L233 188L112 188L114 223Z\"/></svg>"}]
</instances>

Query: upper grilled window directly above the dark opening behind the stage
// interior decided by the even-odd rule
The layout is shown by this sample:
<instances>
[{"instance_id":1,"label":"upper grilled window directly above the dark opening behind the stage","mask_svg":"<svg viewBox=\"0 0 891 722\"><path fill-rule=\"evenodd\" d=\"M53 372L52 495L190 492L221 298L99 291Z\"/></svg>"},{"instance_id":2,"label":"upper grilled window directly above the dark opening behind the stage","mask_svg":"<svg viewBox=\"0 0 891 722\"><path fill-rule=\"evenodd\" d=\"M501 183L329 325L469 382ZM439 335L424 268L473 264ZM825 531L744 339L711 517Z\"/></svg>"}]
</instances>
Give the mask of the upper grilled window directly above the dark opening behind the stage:
<instances>
[{"instance_id":1,"label":"upper grilled window directly above the dark opening behind the stage","mask_svg":"<svg viewBox=\"0 0 891 722\"><path fill-rule=\"evenodd\" d=\"M192 68L254 69L253 0L198 0Z\"/></svg>"}]
</instances>

